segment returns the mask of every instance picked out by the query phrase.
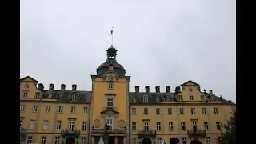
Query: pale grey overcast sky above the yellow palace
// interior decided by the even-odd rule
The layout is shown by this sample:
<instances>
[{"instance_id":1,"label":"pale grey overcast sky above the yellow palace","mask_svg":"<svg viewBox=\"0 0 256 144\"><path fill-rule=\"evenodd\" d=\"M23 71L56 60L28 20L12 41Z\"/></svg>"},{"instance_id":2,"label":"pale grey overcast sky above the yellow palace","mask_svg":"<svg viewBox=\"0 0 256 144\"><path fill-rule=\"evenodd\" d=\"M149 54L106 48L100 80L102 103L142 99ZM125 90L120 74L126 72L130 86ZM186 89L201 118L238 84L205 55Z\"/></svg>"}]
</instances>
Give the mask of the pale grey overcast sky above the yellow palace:
<instances>
[{"instance_id":1,"label":"pale grey overcast sky above the yellow palace","mask_svg":"<svg viewBox=\"0 0 256 144\"><path fill-rule=\"evenodd\" d=\"M236 99L234 0L21 0L20 77L91 90L114 47L134 86L175 86Z\"/></svg>"}]
</instances>

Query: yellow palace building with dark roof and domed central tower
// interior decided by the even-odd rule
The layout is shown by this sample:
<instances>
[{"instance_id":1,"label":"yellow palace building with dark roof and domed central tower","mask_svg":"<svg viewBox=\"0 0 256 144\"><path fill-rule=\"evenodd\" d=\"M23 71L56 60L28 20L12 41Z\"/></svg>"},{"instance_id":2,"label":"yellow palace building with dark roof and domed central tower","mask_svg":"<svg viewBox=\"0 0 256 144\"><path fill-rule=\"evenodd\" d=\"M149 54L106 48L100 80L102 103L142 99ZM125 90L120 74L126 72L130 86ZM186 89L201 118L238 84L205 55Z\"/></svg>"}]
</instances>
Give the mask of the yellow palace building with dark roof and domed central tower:
<instances>
[{"instance_id":1,"label":"yellow palace building with dark roof and domed central tower","mask_svg":"<svg viewBox=\"0 0 256 144\"><path fill-rule=\"evenodd\" d=\"M191 80L180 86L134 86L110 46L106 62L91 75L89 91L56 90L27 76L20 79L20 141L42 144L161 144L194 138L215 144L235 104L200 90Z\"/></svg>"}]
</instances>

